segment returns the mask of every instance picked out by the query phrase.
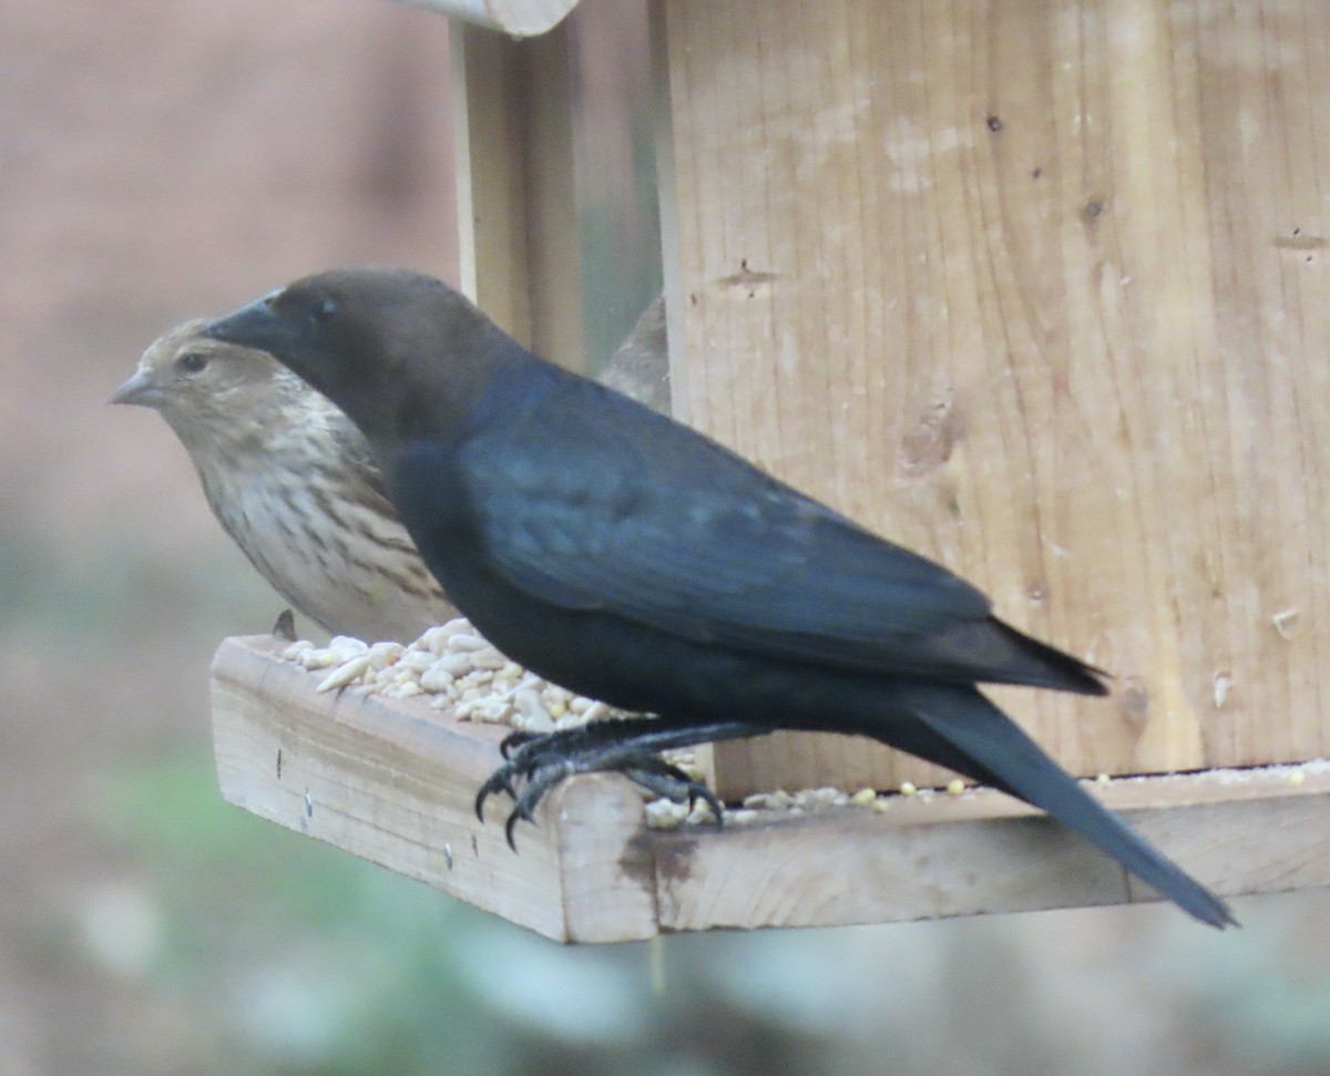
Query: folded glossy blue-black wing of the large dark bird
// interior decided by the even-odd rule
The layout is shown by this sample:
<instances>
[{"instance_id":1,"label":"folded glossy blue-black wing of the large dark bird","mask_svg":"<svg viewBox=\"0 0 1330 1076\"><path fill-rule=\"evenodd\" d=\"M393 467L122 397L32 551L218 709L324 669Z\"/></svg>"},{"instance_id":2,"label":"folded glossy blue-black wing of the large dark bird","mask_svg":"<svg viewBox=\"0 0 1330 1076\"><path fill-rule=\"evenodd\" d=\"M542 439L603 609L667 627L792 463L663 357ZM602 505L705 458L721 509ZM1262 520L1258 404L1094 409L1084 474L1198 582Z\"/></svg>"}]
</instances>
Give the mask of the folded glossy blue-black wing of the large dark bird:
<instances>
[{"instance_id":1,"label":"folded glossy blue-black wing of the large dark bird","mask_svg":"<svg viewBox=\"0 0 1330 1076\"><path fill-rule=\"evenodd\" d=\"M576 378L459 454L489 563L527 595L781 660L1103 690L979 591L706 438Z\"/></svg>"}]
</instances>

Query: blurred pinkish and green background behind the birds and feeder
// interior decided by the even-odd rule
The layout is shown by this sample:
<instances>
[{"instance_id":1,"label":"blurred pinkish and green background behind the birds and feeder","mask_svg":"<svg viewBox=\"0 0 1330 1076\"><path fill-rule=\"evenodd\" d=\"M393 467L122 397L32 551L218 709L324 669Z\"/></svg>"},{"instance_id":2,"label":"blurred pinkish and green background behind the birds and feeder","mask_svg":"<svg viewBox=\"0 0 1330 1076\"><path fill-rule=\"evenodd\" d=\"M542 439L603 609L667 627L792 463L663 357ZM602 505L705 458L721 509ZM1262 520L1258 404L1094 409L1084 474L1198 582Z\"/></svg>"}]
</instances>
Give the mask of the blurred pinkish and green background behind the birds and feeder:
<instances>
[{"instance_id":1,"label":"blurred pinkish and green background behind the birds and feeder","mask_svg":"<svg viewBox=\"0 0 1330 1076\"><path fill-rule=\"evenodd\" d=\"M387 0L0 0L0 1076L1330 1073L1321 892L564 951L219 802L279 603L102 400L301 273L447 275L446 85Z\"/></svg>"}]
</instances>

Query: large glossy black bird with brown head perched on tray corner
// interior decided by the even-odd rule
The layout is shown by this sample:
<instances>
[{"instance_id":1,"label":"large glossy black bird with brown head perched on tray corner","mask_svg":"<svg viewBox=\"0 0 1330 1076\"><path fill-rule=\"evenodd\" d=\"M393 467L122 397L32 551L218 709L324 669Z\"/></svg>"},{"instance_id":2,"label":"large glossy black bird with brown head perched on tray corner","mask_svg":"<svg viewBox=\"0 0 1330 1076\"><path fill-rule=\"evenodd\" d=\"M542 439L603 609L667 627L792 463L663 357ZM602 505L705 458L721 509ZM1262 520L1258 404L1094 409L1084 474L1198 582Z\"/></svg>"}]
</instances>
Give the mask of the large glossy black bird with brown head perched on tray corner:
<instances>
[{"instance_id":1,"label":"large glossy black bird with brown head perched on tray corner","mask_svg":"<svg viewBox=\"0 0 1330 1076\"><path fill-rule=\"evenodd\" d=\"M543 362L430 277L322 273L205 333L275 355L346 411L430 569L496 646L657 714L529 741L485 790L625 769L634 743L867 736L1048 811L1198 919L1234 922L975 686L1103 694L1097 670L938 564ZM531 803L524 790L519 813Z\"/></svg>"}]
</instances>

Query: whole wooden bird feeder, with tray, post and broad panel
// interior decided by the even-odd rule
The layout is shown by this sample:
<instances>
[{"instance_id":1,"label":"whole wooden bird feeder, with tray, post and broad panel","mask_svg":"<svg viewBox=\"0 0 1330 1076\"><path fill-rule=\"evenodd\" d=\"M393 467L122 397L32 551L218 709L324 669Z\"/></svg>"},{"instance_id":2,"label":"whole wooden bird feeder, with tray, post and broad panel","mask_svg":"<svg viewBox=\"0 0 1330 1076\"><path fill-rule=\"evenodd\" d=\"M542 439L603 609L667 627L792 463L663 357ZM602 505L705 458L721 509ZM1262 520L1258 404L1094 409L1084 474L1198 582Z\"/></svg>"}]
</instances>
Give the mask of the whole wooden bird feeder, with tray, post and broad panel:
<instances>
[{"instance_id":1,"label":"whole wooden bird feeder, with tray, post and broad panel","mask_svg":"<svg viewBox=\"0 0 1330 1076\"><path fill-rule=\"evenodd\" d=\"M664 283L680 418L1113 672L994 692L1061 765L1157 774L1104 798L1222 894L1330 884L1330 7L423 5L497 28L452 56L481 307L585 368ZM986 791L654 833L577 778L513 857L469 814L496 730L314 682L222 646L226 795L549 936L1144 895ZM795 734L712 766L947 779Z\"/></svg>"}]
</instances>

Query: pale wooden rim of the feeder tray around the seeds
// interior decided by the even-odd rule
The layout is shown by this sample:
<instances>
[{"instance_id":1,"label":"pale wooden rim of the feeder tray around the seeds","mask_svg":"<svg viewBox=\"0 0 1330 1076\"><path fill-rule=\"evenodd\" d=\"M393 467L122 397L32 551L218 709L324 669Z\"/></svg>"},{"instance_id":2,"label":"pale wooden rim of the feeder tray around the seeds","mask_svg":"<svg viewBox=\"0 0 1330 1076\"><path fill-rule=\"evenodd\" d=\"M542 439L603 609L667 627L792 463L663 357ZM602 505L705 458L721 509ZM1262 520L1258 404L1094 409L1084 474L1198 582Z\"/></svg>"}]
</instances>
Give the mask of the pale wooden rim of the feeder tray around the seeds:
<instances>
[{"instance_id":1,"label":"pale wooden rim of the feeder tray around the seeds","mask_svg":"<svg viewBox=\"0 0 1330 1076\"><path fill-rule=\"evenodd\" d=\"M476 790L507 726L422 698L318 694L285 641L213 662L217 774L231 803L559 942L718 927L829 927L1156 899L1079 837L1000 793L892 797L887 810L645 827L621 777L565 781L504 841ZM1330 884L1330 763L1115 779L1095 794L1225 896Z\"/></svg>"}]
</instances>

